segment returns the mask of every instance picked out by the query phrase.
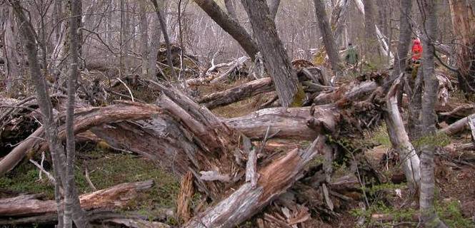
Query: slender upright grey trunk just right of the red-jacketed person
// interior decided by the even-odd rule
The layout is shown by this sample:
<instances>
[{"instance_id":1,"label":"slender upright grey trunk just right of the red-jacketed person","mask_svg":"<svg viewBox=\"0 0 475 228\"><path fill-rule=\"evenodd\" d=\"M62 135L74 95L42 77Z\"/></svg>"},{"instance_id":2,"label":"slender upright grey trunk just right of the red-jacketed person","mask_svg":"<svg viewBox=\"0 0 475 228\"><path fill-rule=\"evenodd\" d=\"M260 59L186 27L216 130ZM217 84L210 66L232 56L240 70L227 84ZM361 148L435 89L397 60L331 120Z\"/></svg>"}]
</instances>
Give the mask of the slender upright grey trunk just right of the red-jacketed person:
<instances>
[{"instance_id":1,"label":"slender upright grey trunk just right of the red-jacketed person","mask_svg":"<svg viewBox=\"0 0 475 228\"><path fill-rule=\"evenodd\" d=\"M421 210L421 222L426 227L446 227L444 222L439 219L434 208L434 152L436 142L431 140L436 134L437 115L435 106L437 101L437 90L439 81L434 72L434 53L435 48L432 44L436 41L437 33L437 0L422 0L421 14L423 15L424 31L422 43L424 50L422 52L422 69L424 75L424 96L422 103L422 124L424 133L428 140L421 146L421 197L419 198Z\"/></svg>"}]
</instances>

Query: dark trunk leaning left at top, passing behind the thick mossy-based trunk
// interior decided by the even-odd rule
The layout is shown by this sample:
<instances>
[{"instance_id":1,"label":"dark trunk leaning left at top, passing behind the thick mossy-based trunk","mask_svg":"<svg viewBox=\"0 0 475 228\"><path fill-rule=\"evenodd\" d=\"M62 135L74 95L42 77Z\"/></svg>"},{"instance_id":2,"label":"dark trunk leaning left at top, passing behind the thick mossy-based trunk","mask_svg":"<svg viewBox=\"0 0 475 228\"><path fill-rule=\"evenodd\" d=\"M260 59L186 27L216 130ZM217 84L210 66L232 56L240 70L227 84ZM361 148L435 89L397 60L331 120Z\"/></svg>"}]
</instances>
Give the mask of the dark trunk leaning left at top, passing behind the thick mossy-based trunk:
<instances>
[{"instance_id":1,"label":"dark trunk leaning left at top, passing behind the thick mossy-based trunk","mask_svg":"<svg viewBox=\"0 0 475 228\"><path fill-rule=\"evenodd\" d=\"M213 19L216 24L229 33L239 45L246 51L247 55L251 57L252 61L256 58L256 54L259 52L257 44L252 39L251 35L246 32L237 21L232 19L224 11L219 8L218 4L213 0L194 0L203 11Z\"/></svg>"}]
</instances>

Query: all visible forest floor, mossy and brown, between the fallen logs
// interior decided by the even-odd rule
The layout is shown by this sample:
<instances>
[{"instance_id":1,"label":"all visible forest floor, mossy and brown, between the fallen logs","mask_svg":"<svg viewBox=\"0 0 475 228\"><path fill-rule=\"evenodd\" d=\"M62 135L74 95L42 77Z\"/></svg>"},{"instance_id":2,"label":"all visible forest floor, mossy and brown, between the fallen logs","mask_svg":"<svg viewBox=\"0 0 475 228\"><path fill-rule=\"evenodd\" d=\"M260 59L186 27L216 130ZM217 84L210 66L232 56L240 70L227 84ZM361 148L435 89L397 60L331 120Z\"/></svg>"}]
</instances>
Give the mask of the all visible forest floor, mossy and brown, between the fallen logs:
<instances>
[{"instance_id":1,"label":"all visible forest floor, mossy and brown, between the fallen logs","mask_svg":"<svg viewBox=\"0 0 475 228\"><path fill-rule=\"evenodd\" d=\"M195 89L200 95L205 95L245 82L246 79L240 79L224 86L199 86ZM257 95L212 111L223 118L246 115L258 110L259 105L274 94ZM389 152L391 143L385 127L381 126L362 136L361 140L379 145L366 150L364 156L388 181L370 188L361 187L361 192L364 192L362 195L347 195L356 200L346 205L344 210L337 211L338 217L319 217L319 214L312 212L312 219L304 223L305 227L417 227L418 199L409 192L406 184L401 182L401 176L404 175L396 156ZM469 142L470 138L469 135L459 135L451 140ZM308 144L309 142L294 140L270 140L267 149L284 152L288 148ZM76 183L81 193L93 191L86 182L86 169L89 170L90 180L97 190L123 182L154 180L154 187L141 193L121 211L139 212L171 226L178 224L174 209L180 182L170 172L162 169L160 164L129 152L112 150L101 143L81 145L78 149L80 152L76 162ZM35 160L39 160L38 156L36 155ZM436 210L449 227L475 227L475 168L473 165L455 164L452 160L456 156L444 154L436 157ZM323 156L316 157L316 160L323 160ZM46 169L49 170L49 167ZM351 173L350 167L345 165L336 164L334 170L332 178ZM0 177L0 198L21 193L41 193L46 199L54 199L53 185L44 176L39 180L39 170L27 160L6 176ZM201 196L194 195L191 208L198 207L200 202L203 202ZM239 227L256 227L255 219L262 216L257 214Z\"/></svg>"}]
</instances>

